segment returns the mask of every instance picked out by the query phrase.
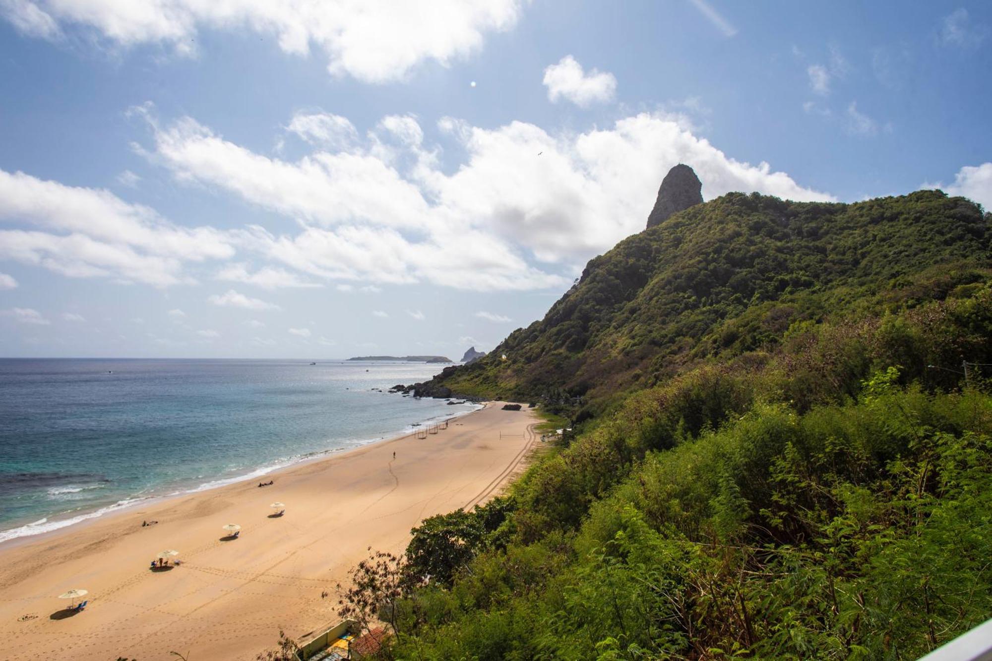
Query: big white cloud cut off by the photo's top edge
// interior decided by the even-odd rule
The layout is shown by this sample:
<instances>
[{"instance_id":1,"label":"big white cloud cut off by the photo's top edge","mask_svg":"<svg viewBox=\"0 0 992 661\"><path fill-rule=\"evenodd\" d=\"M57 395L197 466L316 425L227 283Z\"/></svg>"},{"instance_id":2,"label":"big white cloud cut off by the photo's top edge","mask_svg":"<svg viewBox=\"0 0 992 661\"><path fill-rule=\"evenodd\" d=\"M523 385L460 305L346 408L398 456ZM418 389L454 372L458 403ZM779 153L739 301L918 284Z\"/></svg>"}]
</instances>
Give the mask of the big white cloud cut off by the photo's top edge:
<instances>
[{"instance_id":1,"label":"big white cloud cut off by the photo's top edge","mask_svg":"<svg viewBox=\"0 0 992 661\"><path fill-rule=\"evenodd\" d=\"M0 14L21 32L56 39L77 28L122 48L141 44L193 55L200 30L274 36L305 57L323 52L327 70L365 82L406 78L425 61L449 66L509 30L520 0L2 0ZM268 44L266 44L266 48Z\"/></svg>"}]
</instances>

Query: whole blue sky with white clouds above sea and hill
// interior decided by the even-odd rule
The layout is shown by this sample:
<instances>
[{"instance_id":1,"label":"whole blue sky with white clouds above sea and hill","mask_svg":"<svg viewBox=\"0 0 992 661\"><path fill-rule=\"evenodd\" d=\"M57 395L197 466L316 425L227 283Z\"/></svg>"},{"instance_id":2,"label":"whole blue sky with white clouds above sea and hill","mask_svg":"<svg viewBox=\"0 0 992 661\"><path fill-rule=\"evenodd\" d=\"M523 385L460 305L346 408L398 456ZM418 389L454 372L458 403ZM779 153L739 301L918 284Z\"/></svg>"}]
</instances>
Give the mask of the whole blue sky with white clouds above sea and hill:
<instances>
[{"instance_id":1,"label":"whole blue sky with white clouds above sea and hill","mask_svg":"<svg viewBox=\"0 0 992 661\"><path fill-rule=\"evenodd\" d=\"M0 0L0 355L491 349L703 198L992 208L992 5Z\"/></svg>"}]
</instances>

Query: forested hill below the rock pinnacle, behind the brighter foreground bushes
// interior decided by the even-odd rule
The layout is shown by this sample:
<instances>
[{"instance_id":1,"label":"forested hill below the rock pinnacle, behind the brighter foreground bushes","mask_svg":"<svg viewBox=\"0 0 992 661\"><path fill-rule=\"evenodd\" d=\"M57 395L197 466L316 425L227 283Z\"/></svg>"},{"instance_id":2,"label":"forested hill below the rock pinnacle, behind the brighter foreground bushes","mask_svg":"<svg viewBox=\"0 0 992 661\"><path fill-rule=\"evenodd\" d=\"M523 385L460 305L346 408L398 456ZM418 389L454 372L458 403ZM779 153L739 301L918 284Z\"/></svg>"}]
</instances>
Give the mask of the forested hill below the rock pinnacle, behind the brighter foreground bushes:
<instances>
[{"instance_id":1,"label":"forested hill below the rock pinnacle, behind the brighter foreground bushes","mask_svg":"<svg viewBox=\"0 0 992 661\"><path fill-rule=\"evenodd\" d=\"M940 191L849 204L731 193L592 259L543 320L430 385L602 400L775 345L804 321L942 300L988 276L990 218Z\"/></svg>"}]
</instances>

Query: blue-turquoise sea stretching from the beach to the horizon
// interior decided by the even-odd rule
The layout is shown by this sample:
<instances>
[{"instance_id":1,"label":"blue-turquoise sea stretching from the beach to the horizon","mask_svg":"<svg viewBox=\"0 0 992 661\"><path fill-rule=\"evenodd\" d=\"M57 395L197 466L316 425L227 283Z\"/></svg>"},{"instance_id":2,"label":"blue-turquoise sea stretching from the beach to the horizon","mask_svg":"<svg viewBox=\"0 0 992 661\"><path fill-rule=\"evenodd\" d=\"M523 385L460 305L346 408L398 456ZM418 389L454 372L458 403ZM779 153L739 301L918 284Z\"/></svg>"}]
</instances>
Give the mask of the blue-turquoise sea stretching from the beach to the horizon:
<instances>
[{"instance_id":1,"label":"blue-turquoise sea stretching from the beach to the horizon","mask_svg":"<svg viewBox=\"0 0 992 661\"><path fill-rule=\"evenodd\" d=\"M401 362L0 359L0 542L473 410L384 392L437 371Z\"/></svg>"}]
</instances>

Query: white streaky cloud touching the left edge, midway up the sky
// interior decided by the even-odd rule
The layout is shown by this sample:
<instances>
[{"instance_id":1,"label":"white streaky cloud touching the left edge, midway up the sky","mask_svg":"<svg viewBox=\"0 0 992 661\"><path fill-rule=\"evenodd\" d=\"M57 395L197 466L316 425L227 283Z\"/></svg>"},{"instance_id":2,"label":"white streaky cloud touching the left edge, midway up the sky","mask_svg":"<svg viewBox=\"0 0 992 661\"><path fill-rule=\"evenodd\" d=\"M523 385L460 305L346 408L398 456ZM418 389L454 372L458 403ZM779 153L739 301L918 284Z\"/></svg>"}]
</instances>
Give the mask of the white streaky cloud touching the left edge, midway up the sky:
<instances>
[{"instance_id":1,"label":"white streaky cloud touching the left edge, midway up the sky","mask_svg":"<svg viewBox=\"0 0 992 661\"><path fill-rule=\"evenodd\" d=\"M74 278L110 277L166 287L191 279L186 262L226 259L228 236L181 227L108 191L0 170L0 220L39 227L0 230L0 258Z\"/></svg>"}]
</instances>

